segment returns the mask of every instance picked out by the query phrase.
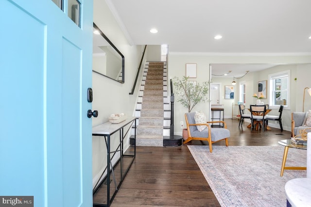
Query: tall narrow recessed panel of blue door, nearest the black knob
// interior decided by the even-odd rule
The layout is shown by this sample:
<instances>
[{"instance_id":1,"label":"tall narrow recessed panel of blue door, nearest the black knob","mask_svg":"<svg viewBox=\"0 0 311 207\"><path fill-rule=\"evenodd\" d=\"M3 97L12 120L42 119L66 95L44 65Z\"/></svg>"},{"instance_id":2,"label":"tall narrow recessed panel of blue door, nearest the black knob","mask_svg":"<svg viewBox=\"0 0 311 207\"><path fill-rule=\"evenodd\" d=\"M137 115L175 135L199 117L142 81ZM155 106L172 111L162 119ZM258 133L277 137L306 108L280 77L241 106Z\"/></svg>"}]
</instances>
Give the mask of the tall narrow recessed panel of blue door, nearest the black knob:
<instances>
[{"instance_id":1,"label":"tall narrow recessed panel of blue door, nearest the black knob","mask_svg":"<svg viewBox=\"0 0 311 207\"><path fill-rule=\"evenodd\" d=\"M81 49L67 39L63 39L62 61L62 150L64 198L81 198L82 192L82 134L80 117L80 80L81 80ZM74 60L74 61L72 61ZM68 96L70 94L70 96ZM85 93L86 95L86 93ZM86 99L86 96L84 97ZM69 105L67 103L77 104ZM86 115L86 113L85 113ZM71 150L71 149L75 150ZM72 174L72 172L74 172ZM64 199L64 207L80 205L79 199Z\"/></svg>"}]
</instances>

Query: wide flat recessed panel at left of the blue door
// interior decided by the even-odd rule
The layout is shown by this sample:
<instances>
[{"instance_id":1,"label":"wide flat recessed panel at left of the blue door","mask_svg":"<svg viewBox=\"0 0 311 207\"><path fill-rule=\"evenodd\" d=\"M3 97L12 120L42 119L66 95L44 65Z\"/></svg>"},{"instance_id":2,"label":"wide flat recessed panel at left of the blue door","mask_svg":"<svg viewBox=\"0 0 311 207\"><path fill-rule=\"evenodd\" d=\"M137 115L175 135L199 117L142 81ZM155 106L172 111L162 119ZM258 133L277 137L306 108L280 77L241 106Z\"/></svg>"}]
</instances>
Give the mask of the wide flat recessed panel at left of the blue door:
<instances>
[{"instance_id":1,"label":"wide flat recessed panel at left of the blue door","mask_svg":"<svg viewBox=\"0 0 311 207\"><path fill-rule=\"evenodd\" d=\"M7 0L0 14L0 195L33 195L43 204L44 185L34 181L45 176L45 25Z\"/></svg>"}]
</instances>

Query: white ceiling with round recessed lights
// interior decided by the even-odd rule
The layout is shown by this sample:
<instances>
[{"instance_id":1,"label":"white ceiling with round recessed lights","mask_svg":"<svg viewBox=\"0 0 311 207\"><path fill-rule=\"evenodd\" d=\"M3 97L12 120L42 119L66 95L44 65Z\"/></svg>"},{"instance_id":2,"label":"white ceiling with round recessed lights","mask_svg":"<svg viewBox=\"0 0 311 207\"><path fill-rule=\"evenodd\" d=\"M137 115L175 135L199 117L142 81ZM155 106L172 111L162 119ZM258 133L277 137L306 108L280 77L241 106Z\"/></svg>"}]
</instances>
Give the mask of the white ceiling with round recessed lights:
<instances>
[{"instance_id":1,"label":"white ceiling with round recessed lights","mask_svg":"<svg viewBox=\"0 0 311 207\"><path fill-rule=\"evenodd\" d=\"M311 54L311 0L106 2L133 45L167 44L170 53Z\"/></svg>"}]
</instances>

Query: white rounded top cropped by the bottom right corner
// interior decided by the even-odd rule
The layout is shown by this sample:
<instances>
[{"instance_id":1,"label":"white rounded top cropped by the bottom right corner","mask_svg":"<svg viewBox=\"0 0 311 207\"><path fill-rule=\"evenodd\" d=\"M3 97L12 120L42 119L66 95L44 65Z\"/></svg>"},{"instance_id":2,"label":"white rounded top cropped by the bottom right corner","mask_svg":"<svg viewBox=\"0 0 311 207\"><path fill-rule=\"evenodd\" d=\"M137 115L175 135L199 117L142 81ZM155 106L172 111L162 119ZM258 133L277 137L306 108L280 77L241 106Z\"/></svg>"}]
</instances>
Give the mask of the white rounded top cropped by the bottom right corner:
<instances>
[{"instance_id":1,"label":"white rounded top cropped by the bottom right corner","mask_svg":"<svg viewBox=\"0 0 311 207\"><path fill-rule=\"evenodd\" d=\"M311 207L311 178L295 178L287 181L285 192L292 207Z\"/></svg>"}]
</instances>

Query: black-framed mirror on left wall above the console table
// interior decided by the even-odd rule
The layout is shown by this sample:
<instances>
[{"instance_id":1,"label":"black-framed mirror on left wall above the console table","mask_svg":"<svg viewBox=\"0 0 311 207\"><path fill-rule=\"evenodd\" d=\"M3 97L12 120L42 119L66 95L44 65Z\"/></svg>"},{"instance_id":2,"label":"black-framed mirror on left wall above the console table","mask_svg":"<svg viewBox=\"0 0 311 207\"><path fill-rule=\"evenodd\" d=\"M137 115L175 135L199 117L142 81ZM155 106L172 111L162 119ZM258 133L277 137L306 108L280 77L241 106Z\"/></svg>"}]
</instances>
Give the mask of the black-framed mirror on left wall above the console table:
<instances>
[{"instance_id":1,"label":"black-framed mirror on left wall above the console table","mask_svg":"<svg viewBox=\"0 0 311 207\"><path fill-rule=\"evenodd\" d=\"M124 56L93 23L93 72L124 83Z\"/></svg>"}]
</instances>

